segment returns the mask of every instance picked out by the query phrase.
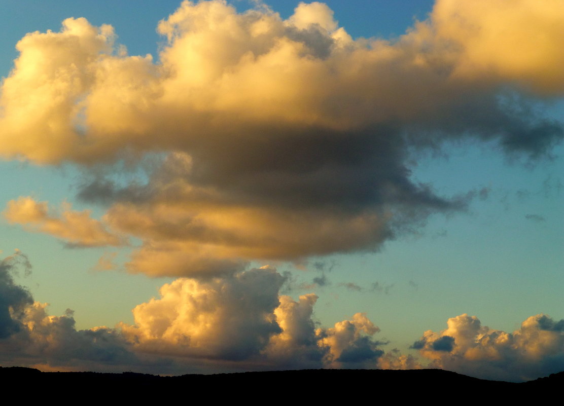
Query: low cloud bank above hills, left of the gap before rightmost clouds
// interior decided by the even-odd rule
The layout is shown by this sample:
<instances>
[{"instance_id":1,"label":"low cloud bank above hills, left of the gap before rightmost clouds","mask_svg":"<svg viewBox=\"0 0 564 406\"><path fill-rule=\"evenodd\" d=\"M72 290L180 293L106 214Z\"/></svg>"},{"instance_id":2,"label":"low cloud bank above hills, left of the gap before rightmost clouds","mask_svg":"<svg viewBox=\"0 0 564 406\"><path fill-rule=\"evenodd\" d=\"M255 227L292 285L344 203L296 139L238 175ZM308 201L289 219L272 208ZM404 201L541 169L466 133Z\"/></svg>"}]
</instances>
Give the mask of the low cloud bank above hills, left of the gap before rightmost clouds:
<instances>
[{"instance_id":1,"label":"low cloud bank above hills, left of the gap before rightmost clouds","mask_svg":"<svg viewBox=\"0 0 564 406\"><path fill-rule=\"evenodd\" d=\"M43 369L263 370L374 367L383 354L364 314L319 328L315 294L279 295L284 277L263 267L207 280L180 278L133 309L135 323L76 330L74 312L50 316L14 283L20 251L0 263L0 360Z\"/></svg>"}]
</instances>

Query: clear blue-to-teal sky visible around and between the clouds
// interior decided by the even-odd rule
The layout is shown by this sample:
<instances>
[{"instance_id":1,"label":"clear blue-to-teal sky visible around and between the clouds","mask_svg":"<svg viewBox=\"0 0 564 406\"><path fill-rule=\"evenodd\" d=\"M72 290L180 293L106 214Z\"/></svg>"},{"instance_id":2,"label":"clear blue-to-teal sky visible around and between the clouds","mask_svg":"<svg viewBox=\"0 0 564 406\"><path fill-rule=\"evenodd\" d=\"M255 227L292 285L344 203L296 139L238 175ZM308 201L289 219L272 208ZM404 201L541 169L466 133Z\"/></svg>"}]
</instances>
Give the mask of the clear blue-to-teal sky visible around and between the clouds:
<instances>
[{"instance_id":1,"label":"clear blue-to-teal sky visible around and between the clouds","mask_svg":"<svg viewBox=\"0 0 564 406\"><path fill-rule=\"evenodd\" d=\"M230 2L239 10L246 2ZM296 2L267 2L288 17ZM334 17L353 37L393 39L425 19L432 1L328 1ZM16 42L27 32L58 31L70 16L86 17L94 25L113 25L118 43L130 55L157 56L162 38L156 24L178 6L176 1L68 2L3 1L0 6L0 76L8 76L17 57ZM559 102L547 110L564 120ZM366 312L378 325L377 337L387 348L407 351L425 330L446 328L448 317L468 313L482 324L512 332L528 316L544 312L564 318L564 148L552 157L528 161L508 157L495 143L461 141L440 151L413 156L411 179L429 184L443 197L473 193L468 209L433 214L412 230L386 241L380 250L310 258L305 266L272 263L296 278L288 294L314 292L321 325ZM76 210L102 207L76 198L80 172L72 165L39 167L27 162L0 162L0 208L19 196L33 196L58 206L63 201ZM33 266L18 283L34 298L49 302L52 315L75 311L77 328L133 323L131 309L157 296L157 289L173 280L130 275L123 269L94 271L107 249L65 248L54 237L30 233L20 226L0 223L0 250L23 251ZM122 248L115 262L127 261ZM111 250L117 251L117 250ZM318 263L318 266L315 266ZM253 263L263 266L265 262ZM306 268L306 269L303 269ZM325 276L323 285L311 285ZM300 285L301 284L301 285ZM310 286L304 286L308 285ZM347 285L349 284L349 285ZM373 285L377 284L377 285Z\"/></svg>"}]
</instances>

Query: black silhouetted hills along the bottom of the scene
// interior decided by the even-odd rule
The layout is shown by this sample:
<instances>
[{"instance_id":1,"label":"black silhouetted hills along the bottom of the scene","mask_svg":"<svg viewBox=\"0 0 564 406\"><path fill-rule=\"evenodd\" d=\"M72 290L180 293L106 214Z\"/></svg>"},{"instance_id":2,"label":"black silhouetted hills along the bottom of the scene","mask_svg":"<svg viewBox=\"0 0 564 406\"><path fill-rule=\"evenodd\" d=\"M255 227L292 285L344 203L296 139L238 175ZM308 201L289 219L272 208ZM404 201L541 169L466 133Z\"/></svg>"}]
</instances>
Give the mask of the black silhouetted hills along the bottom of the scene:
<instances>
[{"instance_id":1,"label":"black silhouetted hills along the bottom of the scene","mask_svg":"<svg viewBox=\"0 0 564 406\"><path fill-rule=\"evenodd\" d=\"M191 403L196 396L206 401L241 400L250 404L301 403L304 400L355 403L417 400L426 404L445 400L481 402L526 398L561 401L564 393L564 372L513 383L486 381L441 369L310 369L161 377L133 372L41 372L33 368L0 367L0 382L5 390L25 392L28 399L49 399L64 393L73 396L75 401L162 401L169 396L182 396Z\"/></svg>"}]
</instances>

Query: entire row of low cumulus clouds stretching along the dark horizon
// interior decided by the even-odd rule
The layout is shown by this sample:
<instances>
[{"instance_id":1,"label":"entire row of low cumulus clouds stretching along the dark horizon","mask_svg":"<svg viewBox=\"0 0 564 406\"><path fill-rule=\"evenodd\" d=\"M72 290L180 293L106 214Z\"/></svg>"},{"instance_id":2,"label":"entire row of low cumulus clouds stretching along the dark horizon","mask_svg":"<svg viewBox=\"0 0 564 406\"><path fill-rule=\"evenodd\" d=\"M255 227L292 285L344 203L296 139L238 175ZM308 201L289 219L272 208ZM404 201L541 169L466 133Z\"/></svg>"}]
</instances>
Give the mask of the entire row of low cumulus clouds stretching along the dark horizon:
<instances>
[{"instance_id":1,"label":"entire row of low cumulus clouds stretching along the dark horizon","mask_svg":"<svg viewBox=\"0 0 564 406\"><path fill-rule=\"evenodd\" d=\"M363 313L320 327L315 294L280 295L284 277L263 267L206 280L180 278L133 310L134 324L76 330L72 310L50 316L14 283L20 251L0 263L0 360L42 369L142 369L162 373L296 368L443 368L487 379L526 381L564 368L564 320L539 314L513 333L466 314L428 330L412 348L423 360L374 335Z\"/></svg>"}]
</instances>

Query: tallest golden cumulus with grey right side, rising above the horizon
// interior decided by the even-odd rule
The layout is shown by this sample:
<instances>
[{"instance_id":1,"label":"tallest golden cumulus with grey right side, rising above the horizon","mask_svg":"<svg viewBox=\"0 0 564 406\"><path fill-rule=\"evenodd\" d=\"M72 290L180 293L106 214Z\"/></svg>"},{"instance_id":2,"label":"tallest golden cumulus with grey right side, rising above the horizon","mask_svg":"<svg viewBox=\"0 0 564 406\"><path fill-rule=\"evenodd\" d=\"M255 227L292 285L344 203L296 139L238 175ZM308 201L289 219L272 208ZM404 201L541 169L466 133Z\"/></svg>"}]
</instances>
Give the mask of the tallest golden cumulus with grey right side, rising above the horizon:
<instances>
[{"instance_id":1,"label":"tallest golden cumulus with grey right side, rising above the horizon","mask_svg":"<svg viewBox=\"0 0 564 406\"><path fill-rule=\"evenodd\" d=\"M135 307L135 325L121 329L139 351L247 359L281 332L274 310L282 283L270 269L209 281L177 279L162 286L160 299Z\"/></svg>"}]
</instances>

